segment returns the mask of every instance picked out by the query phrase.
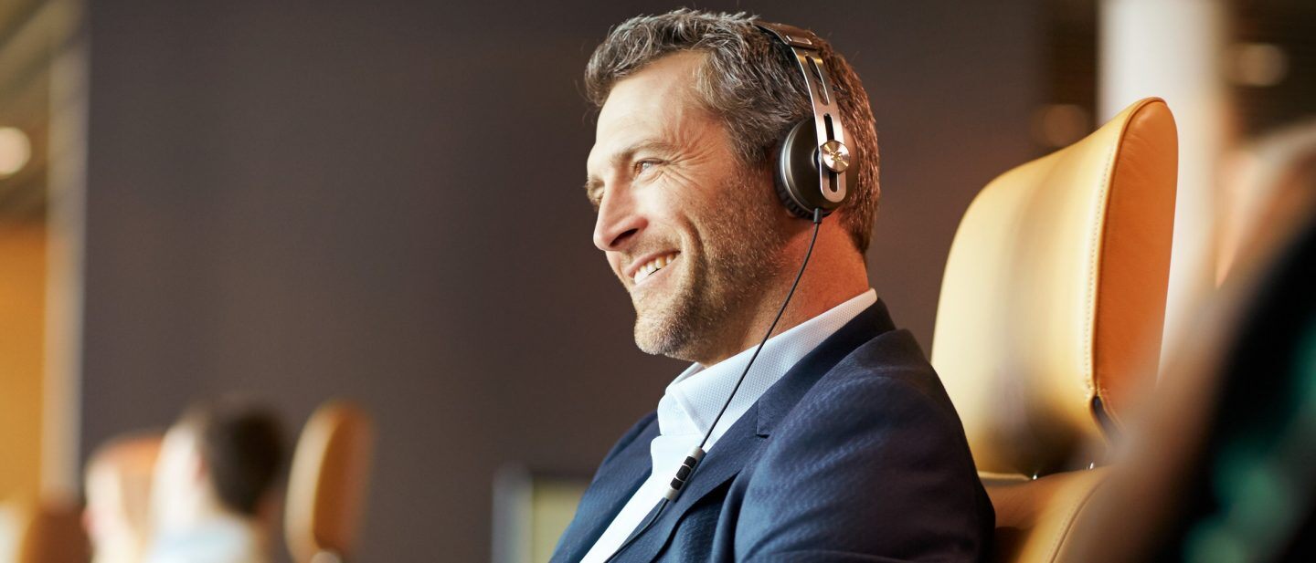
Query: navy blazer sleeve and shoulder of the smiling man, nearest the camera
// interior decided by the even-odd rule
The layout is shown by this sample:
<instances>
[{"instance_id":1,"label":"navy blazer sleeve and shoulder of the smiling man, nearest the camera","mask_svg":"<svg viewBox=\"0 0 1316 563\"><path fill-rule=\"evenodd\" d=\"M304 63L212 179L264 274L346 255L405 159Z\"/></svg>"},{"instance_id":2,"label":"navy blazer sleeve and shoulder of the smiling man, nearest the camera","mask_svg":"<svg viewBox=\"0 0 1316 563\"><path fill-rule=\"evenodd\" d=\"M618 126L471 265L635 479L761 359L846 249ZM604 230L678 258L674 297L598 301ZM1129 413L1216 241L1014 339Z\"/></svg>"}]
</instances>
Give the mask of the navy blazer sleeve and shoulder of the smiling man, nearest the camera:
<instances>
[{"instance_id":1,"label":"navy blazer sleeve and shoulder of the smiling man, nearest the camera","mask_svg":"<svg viewBox=\"0 0 1316 563\"><path fill-rule=\"evenodd\" d=\"M959 417L904 330L819 378L737 485L734 549L746 559L975 560L992 529Z\"/></svg>"}]
</instances>

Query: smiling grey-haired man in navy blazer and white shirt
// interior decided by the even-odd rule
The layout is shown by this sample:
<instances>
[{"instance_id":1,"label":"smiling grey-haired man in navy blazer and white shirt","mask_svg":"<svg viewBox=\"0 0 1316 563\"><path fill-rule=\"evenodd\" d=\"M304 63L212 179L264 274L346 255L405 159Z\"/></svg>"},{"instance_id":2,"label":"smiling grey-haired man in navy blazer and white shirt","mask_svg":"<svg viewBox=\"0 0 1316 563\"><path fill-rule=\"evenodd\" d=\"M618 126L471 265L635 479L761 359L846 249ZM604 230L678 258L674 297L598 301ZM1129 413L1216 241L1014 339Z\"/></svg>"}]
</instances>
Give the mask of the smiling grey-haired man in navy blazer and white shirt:
<instances>
[{"instance_id":1,"label":"smiling grey-haired man in navy blazer and white shirt","mask_svg":"<svg viewBox=\"0 0 1316 563\"><path fill-rule=\"evenodd\" d=\"M994 517L963 429L869 288L867 95L817 37L853 193L821 221L775 335L719 418L813 235L774 189L776 147L813 105L791 47L754 22L636 17L586 70L600 108L595 245L630 293L640 349L694 366L608 453L553 560L978 560ZM707 455L663 501L700 443Z\"/></svg>"}]
</instances>

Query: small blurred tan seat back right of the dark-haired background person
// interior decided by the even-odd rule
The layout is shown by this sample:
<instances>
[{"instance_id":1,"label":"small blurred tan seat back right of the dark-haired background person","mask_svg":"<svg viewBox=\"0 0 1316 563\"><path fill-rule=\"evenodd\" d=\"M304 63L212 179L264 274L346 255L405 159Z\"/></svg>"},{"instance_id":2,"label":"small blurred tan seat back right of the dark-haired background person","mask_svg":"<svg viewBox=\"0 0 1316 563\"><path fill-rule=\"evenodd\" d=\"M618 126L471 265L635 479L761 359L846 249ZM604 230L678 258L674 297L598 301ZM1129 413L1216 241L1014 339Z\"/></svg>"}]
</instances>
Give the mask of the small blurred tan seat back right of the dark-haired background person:
<instances>
[{"instance_id":1,"label":"small blurred tan seat back right of the dark-haired background person","mask_svg":"<svg viewBox=\"0 0 1316 563\"><path fill-rule=\"evenodd\" d=\"M284 518L297 563L349 560L357 547L370 480L370 416L343 401L321 405L297 438Z\"/></svg>"}]
</instances>

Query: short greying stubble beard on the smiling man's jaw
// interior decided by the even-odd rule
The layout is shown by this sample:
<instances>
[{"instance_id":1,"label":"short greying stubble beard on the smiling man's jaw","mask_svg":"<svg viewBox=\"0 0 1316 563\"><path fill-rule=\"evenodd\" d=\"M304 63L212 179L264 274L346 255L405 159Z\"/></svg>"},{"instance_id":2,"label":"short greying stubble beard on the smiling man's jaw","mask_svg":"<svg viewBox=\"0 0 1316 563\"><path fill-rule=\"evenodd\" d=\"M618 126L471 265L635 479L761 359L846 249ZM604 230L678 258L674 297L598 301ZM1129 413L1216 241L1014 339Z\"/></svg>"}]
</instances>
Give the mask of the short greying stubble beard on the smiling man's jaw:
<instances>
[{"instance_id":1,"label":"short greying stubble beard on the smiling man's jaw","mask_svg":"<svg viewBox=\"0 0 1316 563\"><path fill-rule=\"evenodd\" d=\"M740 339L783 268L788 234L780 208L737 175L722 205L691 214L691 233L680 254L680 278L663 303L636 306L636 345L647 354L687 362L704 358L729 338Z\"/></svg>"}]
</instances>

